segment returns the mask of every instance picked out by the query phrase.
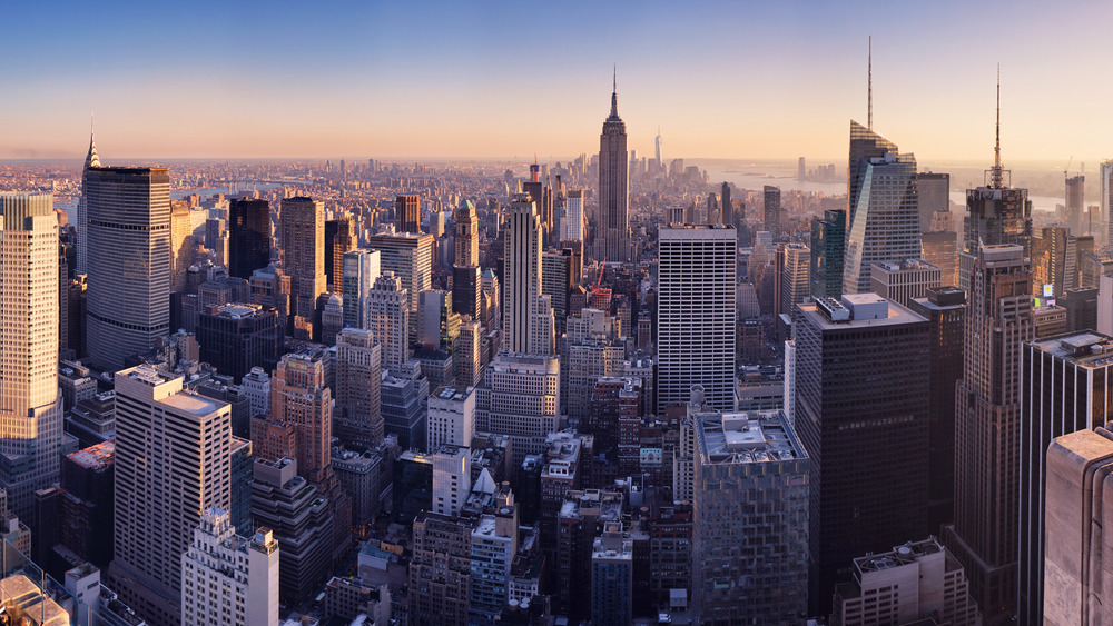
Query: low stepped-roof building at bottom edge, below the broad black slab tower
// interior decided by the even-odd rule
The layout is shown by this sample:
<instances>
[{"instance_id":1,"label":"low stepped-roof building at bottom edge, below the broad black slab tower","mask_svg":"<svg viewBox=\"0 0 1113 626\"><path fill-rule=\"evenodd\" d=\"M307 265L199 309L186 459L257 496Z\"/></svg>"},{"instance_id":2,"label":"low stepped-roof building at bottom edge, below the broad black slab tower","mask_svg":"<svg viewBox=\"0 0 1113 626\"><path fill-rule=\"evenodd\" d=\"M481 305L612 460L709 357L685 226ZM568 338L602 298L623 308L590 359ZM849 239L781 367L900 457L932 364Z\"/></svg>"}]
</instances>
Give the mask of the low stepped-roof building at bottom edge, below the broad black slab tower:
<instances>
[{"instance_id":1,"label":"low stepped-roof building at bottom edge, below the broad black slab tower","mask_svg":"<svg viewBox=\"0 0 1113 626\"><path fill-rule=\"evenodd\" d=\"M835 592L831 626L981 626L962 565L934 538L854 559L854 579Z\"/></svg>"}]
</instances>

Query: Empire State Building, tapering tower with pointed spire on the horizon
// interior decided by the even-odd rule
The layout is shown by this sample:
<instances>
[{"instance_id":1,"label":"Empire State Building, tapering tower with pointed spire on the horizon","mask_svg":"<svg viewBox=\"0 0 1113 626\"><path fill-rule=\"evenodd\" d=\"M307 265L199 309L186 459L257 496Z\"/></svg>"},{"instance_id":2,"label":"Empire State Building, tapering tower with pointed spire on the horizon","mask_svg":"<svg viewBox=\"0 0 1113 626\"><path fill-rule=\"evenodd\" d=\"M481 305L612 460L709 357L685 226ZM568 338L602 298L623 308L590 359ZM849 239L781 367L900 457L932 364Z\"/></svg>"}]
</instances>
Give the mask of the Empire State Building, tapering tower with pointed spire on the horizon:
<instances>
[{"instance_id":1,"label":"Empire State Building, tapering tower with pointed spire on the horizon","mask_svg":"<svg viewBox=\"0 0 1113 626\"><path fill-rule=\"evenodd\" d=\"M611 115L599 136L599 210L595 220L595 259L630 260L630 217L627 186L630 159L626 122L619 117L618 78L611 92Z\"/></svg>"}]
</instances>

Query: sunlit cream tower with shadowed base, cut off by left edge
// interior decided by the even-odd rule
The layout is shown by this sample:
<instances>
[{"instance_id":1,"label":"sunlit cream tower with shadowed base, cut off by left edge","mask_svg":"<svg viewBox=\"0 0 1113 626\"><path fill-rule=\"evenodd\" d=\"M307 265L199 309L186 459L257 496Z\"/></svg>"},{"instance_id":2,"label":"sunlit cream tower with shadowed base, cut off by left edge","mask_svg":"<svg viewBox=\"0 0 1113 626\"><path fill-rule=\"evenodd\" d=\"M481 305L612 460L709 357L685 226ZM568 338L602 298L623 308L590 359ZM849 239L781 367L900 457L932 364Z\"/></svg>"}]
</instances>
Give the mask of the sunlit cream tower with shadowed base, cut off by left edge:
<instances>
[{"instance_id":1,"label":"sunlit cream tower with shadowed base, cut off by left edge","mask_svg":"<svg viewBox=\"0 0 1113 626\"><path fill-rule=\"evenodd\" d=\"M59 469L58 221L49 193L0 193L0 487L29 520Z\"/></svg>"}]
</instances>

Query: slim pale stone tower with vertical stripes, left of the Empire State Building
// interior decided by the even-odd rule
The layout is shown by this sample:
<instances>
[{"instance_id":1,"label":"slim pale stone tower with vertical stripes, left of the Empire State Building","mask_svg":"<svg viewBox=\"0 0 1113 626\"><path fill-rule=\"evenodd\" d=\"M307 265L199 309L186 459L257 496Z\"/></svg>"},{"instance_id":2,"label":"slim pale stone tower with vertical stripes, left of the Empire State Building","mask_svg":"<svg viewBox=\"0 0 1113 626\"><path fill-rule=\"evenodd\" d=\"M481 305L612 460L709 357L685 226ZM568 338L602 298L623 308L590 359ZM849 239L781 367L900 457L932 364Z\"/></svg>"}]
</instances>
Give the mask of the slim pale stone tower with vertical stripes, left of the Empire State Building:
<instances>
[{"instance_id":1,"label":"slim pale stone tower with vertical stripes, left of the Empire State Building","mask_svg":"<svg viewBox=\"0 0 1113 626\"><path fill-rule=\"evenodd\" d=\"M510 207L505 226L502 347L514 354L555 351L552 301L541 291L541 219L526 196Z\"/></svg>"}]
</instances>

